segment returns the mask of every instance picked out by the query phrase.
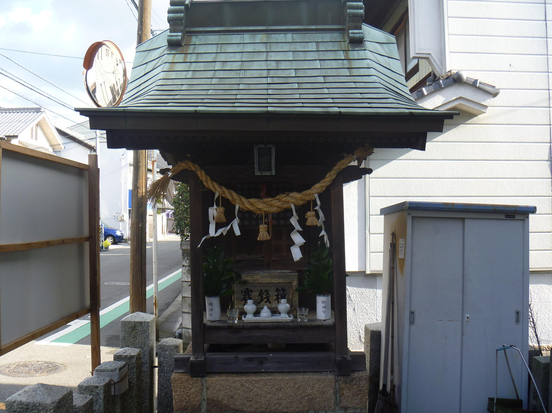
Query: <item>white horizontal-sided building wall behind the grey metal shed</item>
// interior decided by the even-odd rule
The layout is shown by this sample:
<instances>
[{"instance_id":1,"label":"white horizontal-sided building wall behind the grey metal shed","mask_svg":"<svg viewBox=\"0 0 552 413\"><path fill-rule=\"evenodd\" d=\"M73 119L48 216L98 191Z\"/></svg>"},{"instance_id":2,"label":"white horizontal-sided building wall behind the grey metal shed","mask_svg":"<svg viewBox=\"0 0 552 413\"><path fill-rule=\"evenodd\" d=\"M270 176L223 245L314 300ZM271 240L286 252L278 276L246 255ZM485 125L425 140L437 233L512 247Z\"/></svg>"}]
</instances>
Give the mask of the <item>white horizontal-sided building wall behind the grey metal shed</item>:
<instances>
[{"instance_id":1,"label":"white horizontal-sided building wall behind the grey metal shed","mask_svg":"<svg viewBox=\"0 0 552 413\"><path fill-rule=\"evenodd\" d=\"M529 218L530 291L541 341L552 345L552 60L546 39L547 24L552 33L552 5L546 8L545 13L544 2L447 1L448 69L490 83L500 94L487 113L463 113L447 121L442 134L428 134L426 151L375 150L365 164L374 170L366 185L369 231L363 237L361 221L353 229L346 218L346 253L347 271L381 273L385 246L379 211L404 200L535 205L537 213ZM346 215L362 204L364 186L355 185L356 194L353 184L344 188ZM363 254L364 266L358 259ZM352 278L348 290L355 288ZM365 299L373 295L368 289ZM349 321L349 347L362 348L350 330L374 316L355 317L360 321Z\"/></svg>"}]
</instances>

